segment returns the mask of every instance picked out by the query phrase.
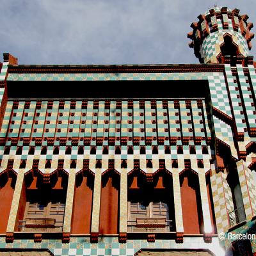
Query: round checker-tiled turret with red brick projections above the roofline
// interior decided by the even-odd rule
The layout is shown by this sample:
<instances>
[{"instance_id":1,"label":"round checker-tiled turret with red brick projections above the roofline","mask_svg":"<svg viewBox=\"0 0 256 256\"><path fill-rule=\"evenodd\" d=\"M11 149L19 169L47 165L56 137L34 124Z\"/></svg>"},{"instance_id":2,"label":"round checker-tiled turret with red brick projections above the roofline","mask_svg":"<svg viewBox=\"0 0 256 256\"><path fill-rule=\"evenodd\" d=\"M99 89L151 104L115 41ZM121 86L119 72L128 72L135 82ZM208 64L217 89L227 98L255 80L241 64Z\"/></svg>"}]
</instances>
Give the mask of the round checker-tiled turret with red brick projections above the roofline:
<instances>
[{"instance_id":1,"label":"round checker-tiled turret with red brick projections above the roofline","mask_svg":"<svg viewBox=\"0 0 256 256\"><path fill-rule=\"evenodd\" d=\"M195 56L201 63L223 63L223 57L241 56L246 58L252 47L253 24L248 15L239 15L239 10L215 6L198 16L193 22L193 31L188 33L192 40L189 47L194 48Z\"/></svg>"}]
</instances>

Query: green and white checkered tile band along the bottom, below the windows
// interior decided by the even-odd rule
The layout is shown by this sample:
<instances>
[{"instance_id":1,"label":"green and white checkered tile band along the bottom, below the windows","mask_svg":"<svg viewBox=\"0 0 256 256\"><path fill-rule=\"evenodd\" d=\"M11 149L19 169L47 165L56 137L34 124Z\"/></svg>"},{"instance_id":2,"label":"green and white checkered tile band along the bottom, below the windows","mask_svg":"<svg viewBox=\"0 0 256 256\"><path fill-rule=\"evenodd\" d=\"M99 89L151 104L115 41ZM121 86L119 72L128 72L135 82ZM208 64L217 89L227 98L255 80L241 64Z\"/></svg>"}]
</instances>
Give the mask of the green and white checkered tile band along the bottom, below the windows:
<instances>
[{"instance_id":1,"label":"green and white checkered tile band along the bottom, below the windows","mask_svg":"<svg viewBox=\"0 0 256 256\"><path fill-rule=\"evenodd\" d=\"M63 244L60 240L42 240L42 243L33 243L33 240L15 240L15 243L6 244L0 237L0 248L48 248L56 256L101 256L127 255L133 256L140 249L186 249L205 248L218 256L224 256L218 237L212 237L212 243L204 243L203 237L184 237L184 243L177 244L174 240L159 240L148 243L147 240L129 240L125 244L118 243L118 237L100 237L97 244L91 244L89 237L71 237L70 243Z\"/></svg>"}]
</instances>

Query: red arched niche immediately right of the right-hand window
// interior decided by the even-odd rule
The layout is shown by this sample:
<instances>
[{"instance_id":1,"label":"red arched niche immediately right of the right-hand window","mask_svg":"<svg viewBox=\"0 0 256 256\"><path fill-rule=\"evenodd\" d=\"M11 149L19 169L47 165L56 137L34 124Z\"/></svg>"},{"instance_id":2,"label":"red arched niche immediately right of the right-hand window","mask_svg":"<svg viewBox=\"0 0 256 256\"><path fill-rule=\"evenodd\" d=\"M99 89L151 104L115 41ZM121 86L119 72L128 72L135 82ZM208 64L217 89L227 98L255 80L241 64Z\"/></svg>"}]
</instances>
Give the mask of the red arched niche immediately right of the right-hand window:
<instances>
[{"instance_id":1,"label":"red arched niche immediately right of the right-hand window","mask_svg":"<svg viewBox=\"0 0 256 256\"><path fill-rule=\"evenodd\" d=\"M180 195L184 234L202 234L202 203L197 173L192 170L180 173Z\"/></svg>"}]
</instances>

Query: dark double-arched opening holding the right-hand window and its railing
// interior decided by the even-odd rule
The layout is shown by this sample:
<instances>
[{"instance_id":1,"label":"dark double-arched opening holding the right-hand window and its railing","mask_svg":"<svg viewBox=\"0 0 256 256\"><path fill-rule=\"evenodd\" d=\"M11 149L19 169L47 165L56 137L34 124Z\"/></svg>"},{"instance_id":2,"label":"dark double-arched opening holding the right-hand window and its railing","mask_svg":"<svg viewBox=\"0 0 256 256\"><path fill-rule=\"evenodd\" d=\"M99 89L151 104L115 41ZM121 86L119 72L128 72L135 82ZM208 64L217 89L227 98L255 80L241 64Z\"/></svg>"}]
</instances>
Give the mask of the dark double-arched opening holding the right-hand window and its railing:
<instances>
[{"instance_id":1,"label":"dark double-arched opening holding the right-hand window and its railing","mask_svg":"<svg viewBox=\"0 0 256 256\"><path fill-rule=\"evenodd\" d=\"M127 231L172 232L175 212L172 175L161 170L152 179L140 171L128 176ZM150 224L148 224L150 223Z\"/></svg>"}]
</instances>

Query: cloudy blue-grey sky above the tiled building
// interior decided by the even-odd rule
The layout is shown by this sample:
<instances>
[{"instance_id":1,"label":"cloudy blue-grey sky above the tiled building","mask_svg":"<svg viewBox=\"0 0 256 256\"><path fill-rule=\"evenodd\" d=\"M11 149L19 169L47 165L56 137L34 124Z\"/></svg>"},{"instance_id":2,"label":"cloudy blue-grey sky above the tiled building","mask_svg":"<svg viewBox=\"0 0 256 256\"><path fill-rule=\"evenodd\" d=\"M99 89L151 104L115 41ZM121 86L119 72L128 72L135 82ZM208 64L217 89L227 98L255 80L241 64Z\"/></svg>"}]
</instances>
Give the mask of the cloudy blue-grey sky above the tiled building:
<instances>
[{"instance_id":1,"label":"cloudy blue-grey sky above the tiled building","mask_svg":"<svg viewBox=\"0 0 256 256\"><path fill-rule=\"evenodd\" d=\"M152 64L198 63L187 33L215 0L0 3L0 53L10 52L20 64ZM217 4L240 9L256 26L255 0ZM255 56L256 43L252 45L250 54Z\"/></svg>"}]
</instances>

